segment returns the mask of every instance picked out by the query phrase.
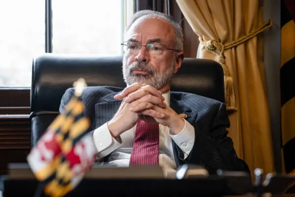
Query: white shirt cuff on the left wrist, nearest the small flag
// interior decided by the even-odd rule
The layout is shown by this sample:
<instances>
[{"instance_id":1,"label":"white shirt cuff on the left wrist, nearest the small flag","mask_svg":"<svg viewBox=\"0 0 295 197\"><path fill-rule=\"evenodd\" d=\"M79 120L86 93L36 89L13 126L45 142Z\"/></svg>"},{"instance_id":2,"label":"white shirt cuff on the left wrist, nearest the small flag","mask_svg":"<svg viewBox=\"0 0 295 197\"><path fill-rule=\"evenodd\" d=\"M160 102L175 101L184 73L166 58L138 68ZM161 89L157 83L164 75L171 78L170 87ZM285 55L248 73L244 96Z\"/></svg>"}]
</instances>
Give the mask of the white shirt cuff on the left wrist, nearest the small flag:
<instances>
[{"instance_id":1,"label":"white shirt cuff on the left wrist, nearest the small flag","mask_svg":"<svg viewBox=\"0 0 295 197\"><path fill-rule=\"evenodd\" d=\"M98 151L97 159L101 159L122 145L121 137L114 138L108 128L108 123L103 124L93 131L93 140Z\"/></svg>"}]
</instances>

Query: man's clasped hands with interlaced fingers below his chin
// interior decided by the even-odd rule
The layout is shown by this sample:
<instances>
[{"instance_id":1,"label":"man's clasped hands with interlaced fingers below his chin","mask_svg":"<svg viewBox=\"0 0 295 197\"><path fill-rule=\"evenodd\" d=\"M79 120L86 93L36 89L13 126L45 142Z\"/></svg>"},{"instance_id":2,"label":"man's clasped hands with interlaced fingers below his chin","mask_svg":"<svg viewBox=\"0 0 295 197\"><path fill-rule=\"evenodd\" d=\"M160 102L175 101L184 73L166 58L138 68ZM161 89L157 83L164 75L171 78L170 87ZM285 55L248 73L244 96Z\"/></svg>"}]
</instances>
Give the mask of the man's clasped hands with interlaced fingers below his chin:
<instances>
[{"instance_id":1,"label":"man's clasped hands with interlaced fingers below his chin","mask_svg":"<svg viewBox=\"0 0 295 197\"><path fill-rule=\"evenodd\" d=\"M115 138L134 127L139 119L167 126L172 134L178 134L184 127L183 118L165 104L160 91L149 85L134 83L114 99L122 99L117 113L108 122Z\"/></svg>"}]
</instances>

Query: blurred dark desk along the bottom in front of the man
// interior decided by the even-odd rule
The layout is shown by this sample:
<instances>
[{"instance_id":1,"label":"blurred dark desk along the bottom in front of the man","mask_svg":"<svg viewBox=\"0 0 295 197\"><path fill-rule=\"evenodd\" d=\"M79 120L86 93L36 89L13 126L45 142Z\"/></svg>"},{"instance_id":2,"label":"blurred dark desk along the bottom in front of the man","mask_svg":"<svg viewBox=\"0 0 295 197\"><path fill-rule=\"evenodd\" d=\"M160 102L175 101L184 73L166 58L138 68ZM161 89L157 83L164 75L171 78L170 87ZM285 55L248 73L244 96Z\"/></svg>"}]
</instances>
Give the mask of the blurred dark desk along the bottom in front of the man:
<instances>
[{"instance_id":1,"label":"blurred dark desk along the bottom in front of the man","mask_svg":"<svg viewBox=\"0 0 295 197\"><path fill-rule=\"evenodd\" d=\"M6 194L12 194L10 196L33 196L38 182L28 167L23 166L18 168L11 168L9 177L0 176L0 190L4 190L4 196ZM110 171L111 170L111 171ZM117 171L116 171L117 170ZM129 170L129 171L128 171ZM130 171L131 170L131 171ZM92 168L85 179L70 192L68 197L71 196L154 196L155 194L164 194L165 196L179 196L198 194L200 196L240 196L241 194L257 191L257 187L254 187L248 178L243 176L197 176L191 179L163 179L155 178L157 176L131 176L130 174L139 174L146 172L152 174L151 168L143 170L140 167L136 168L105 168L98 167ZM26 172L26 173L25 173ZM128 172L128 173L127 173ZM155 174L158 171L154 171ZM96 175L95 175L96 174ZM113 176L111 176L113 174ZM120 178L118 175L120 174ZM97 176L99 175L99 176ZM116 175L116 176L115 176ZM142 174L147 175L147 174ZM100 178L98 178L100 177ZM115 178L116 177L116 178ZM127 178L129 177L129 178ZM143 178L145 177L145 178ZM290 178L288 178L289 180ZM264 191L279 192L285 190L287 182L285 178L278 177L271 187L264 187ZM290 179L294 181L295 179ZM289 181L290 181L289 180ZM248 186L248 187L247 187ZM281 186L281 187L279 187ZM284 186L284 190L282 189ZM17 188L17 190L16 190ZM278 188L280 190L278 190ZM275 189L275 190L273 190ZM113 195L114 194L114 195ZM282 195L279 195L282 196ZM279 197L275 196L275 197ZM294 196L295 194L286 195L286 197ZM245 196L245 197L251 197ZM271 197L271 196L266 196Z\"/></svg>"}]
</instances>

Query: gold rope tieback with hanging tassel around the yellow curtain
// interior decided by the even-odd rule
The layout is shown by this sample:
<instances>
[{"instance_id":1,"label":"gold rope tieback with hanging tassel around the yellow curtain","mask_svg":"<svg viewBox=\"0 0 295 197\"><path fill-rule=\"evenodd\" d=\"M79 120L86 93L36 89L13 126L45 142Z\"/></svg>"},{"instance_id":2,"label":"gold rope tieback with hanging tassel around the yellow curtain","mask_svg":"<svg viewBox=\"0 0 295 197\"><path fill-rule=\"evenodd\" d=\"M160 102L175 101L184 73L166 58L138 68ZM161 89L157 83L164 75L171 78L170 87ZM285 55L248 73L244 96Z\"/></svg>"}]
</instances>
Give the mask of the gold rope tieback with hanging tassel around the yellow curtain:
<instances>
[{"instance_id":1,"label":"gold rope tieback with hanging tassel around the yellow curtain","mask_svg":"<svg viewBox=\"0 0 295 197\"><path fill-rule=\"evenodd\" d=\"M207 39L199 37L200 42L204 45L207 51L216 55L215 60L221 64L224 72L224 89L225 89L225 104L227 106L227 110L229 111L236 111L236 95L234 89L234 82L233 78L230 74L228 66L225 64L225 56L224 51L236 47L237 45L248 41L249 39L255 37L257 34L262 33L266 29L272 26L272 22L268 21L263 24L262 27L258 28L252 33L248 35L242 36L233 42L222 44L217 40L214 39Z\"/></svg>"}]
</instances>

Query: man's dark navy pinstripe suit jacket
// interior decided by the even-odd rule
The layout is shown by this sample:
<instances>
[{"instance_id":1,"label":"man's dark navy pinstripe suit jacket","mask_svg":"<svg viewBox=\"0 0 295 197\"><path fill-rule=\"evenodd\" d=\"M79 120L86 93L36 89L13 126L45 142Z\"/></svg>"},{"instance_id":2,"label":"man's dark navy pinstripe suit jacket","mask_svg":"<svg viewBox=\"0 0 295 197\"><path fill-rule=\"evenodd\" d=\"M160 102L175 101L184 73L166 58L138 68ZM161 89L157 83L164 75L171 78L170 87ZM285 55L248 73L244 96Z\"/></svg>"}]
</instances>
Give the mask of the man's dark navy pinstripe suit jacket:
<instances>
[{"instance_id":1,"label":"man's dark navy pinstripe suit jacket","mask_svg":"<svg viewBox=\"0 0 295 197\"><path fill-rule=\"evenodd\" d=\"M117 112L121 101L114 96L122 88L103 86L87 87L82 95L85 115L90 118L93 131L109 121ZM73 96L74 90L68 89L61 99L59 111ZM183 152L174 143L173 151L177 166L181 164L199 164L210 173L217 169L241 170L249 172L247 164L237 158L233 141L227 136L230 126L224 103L199 95L171 92L170 107L178 114L187 115L186 120L195 128L195 143L192 151L184 160Z\"/></svg>"}]
</instances>

